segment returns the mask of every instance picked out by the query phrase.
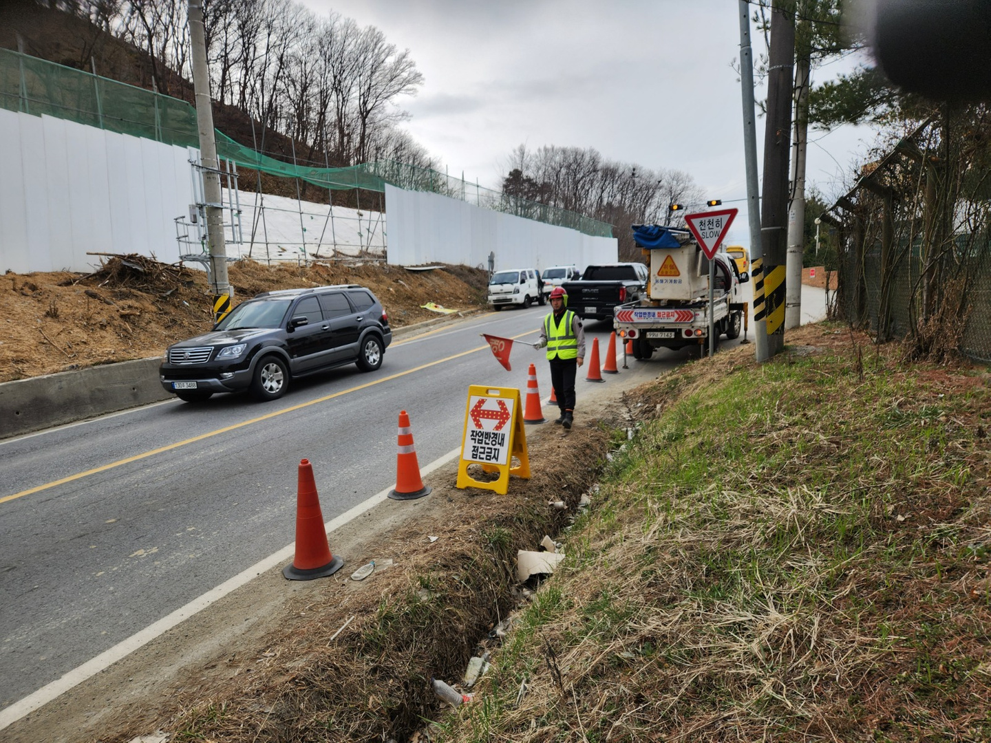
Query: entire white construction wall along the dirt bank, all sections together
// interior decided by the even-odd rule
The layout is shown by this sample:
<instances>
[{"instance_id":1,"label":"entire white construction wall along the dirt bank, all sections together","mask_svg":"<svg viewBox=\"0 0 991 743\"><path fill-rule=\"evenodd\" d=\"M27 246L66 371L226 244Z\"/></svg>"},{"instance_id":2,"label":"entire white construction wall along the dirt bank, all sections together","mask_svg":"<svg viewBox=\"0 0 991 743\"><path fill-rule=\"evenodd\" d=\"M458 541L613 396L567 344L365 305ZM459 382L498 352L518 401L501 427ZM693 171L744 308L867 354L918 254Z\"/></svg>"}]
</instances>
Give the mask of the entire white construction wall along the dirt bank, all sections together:
<instances>
[{"instance_id":1,"label":"entire white construction wall along the dirt bank, all sections together","mask_svg":"<svg viewBox=\"0 0 991 743\"><path fill-rule=\"evenodd\" d=\"M0 109L0 273L90 271L101 263L90 254L99 253L136 253L168 264L183 255L202 255L196 228L188 224L195 201L189 160L195 154ZM224 194L229 203L226 188ZM394 265L488 267L492 253L495 269L582 268L614 262L617 255L613 238L392 186L385 187L385 217L338 206L331 212L327 204L246 190L238 198L242 242L229 243L227 255L262 262L386 254ZM381 197L369 198L375 205ZM230 217L225 210L228 240ZM186 237L180 242L177 235Z\"/></svg>"}]
</instances>

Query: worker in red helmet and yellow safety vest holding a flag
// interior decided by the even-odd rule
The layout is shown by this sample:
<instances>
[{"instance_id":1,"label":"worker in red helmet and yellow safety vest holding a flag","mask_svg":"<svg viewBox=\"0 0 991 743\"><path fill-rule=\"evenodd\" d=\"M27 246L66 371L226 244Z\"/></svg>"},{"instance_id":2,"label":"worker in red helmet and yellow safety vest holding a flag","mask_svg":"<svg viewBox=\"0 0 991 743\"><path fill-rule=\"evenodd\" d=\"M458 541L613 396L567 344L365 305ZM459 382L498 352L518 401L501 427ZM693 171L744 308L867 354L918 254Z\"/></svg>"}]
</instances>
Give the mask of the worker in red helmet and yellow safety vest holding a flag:
<instances>
[{"instance_id":1,"label":"worker in red helmet and yellow safety vest holding a flag","mask_svg":"<svg viewBox=\"0 0 991 743\"><path fill-rule=\"evenodd\" d=\"M561 409L561 417L554 422L571 428L575 415L575 375L585 362L585 329L582 318L567 309L568 295L562 287L554 287L550 301L554 311L544 318L540 340L534 348L547 347L551 384Z\"/></svg>"}]
</instances>

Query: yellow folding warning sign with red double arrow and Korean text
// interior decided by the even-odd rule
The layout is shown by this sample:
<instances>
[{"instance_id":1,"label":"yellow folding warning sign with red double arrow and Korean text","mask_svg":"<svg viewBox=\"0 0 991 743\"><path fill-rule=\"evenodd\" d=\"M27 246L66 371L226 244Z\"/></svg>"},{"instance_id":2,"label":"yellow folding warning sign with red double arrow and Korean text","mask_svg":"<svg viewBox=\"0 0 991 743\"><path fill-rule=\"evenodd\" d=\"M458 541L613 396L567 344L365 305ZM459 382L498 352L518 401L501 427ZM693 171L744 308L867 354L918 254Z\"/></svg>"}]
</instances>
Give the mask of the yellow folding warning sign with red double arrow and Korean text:
<instances>
[{"instance_id":1,"label":"yellow folding warning sign with red double arrow and Korean text","mask_svg":"<svg viewBox=\"0 0 991 743\"><path fill-rule=\"evenodd\" d=\"M515 458L518 465L513 466ZM485 482L468 475L469 465L482 465L486 472L499 474ZM465 430L461 440L458 487L482 487L505 495L509 476L530 477L530 458L526 453L526 432L519 390L512 387L487 387L472 384L465 406Z\"/></svg>"}]
</instances>

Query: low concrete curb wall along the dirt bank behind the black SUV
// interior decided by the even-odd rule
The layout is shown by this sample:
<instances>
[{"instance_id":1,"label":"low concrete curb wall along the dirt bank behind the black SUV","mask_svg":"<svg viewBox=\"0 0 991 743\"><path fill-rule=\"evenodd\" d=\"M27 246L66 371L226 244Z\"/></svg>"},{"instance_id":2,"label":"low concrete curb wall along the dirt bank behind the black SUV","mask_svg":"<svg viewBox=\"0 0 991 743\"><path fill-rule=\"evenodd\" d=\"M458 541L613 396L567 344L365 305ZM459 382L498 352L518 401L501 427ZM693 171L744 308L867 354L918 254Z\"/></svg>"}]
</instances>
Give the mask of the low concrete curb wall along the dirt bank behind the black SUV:
<instances>
[{"instance_id":1,"label":"low concrete curb wall along the dirt bank behind the black SUV","mask_svg":"<svg viewBox=\"0 0 991 743\"><path fill-rule=\"evenodd\" d=\"M396 328L392 338L461 317L446 315ZM157 356L2 382L0 439L172 398L159 381L161 363Z\"/></svg>"}]
</instances>

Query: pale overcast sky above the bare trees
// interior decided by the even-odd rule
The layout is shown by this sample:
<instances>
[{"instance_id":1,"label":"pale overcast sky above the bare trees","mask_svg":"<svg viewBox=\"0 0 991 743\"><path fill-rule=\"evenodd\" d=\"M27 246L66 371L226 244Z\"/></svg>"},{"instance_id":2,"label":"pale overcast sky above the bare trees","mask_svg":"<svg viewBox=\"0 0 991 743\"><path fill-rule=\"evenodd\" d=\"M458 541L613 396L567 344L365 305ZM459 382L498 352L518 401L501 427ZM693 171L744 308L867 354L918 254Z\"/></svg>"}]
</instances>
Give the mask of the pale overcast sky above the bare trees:
<instances>
[{"instance_id":1,"label":"pale overcast sky above the bare trees","mask_svg":"<svg viewBox=\"0 0 991 743\"><path fill-rule=\"evenodd\" d=\"M516 146L595 148L690 173L741 207L727 242L749 245L736 0L302 0L377 26L424 84L406 128L452 175L497 188ZM751 31L754 58L763 37ZM813 83L848 71L849 60ZM764 96L758 90L759 98ZM807 182L838 195L870 131L810 133ZM758 169L764 119L757 120ZM735 200L739 199L737 203Z\"/></svg>"}]
</instances>

